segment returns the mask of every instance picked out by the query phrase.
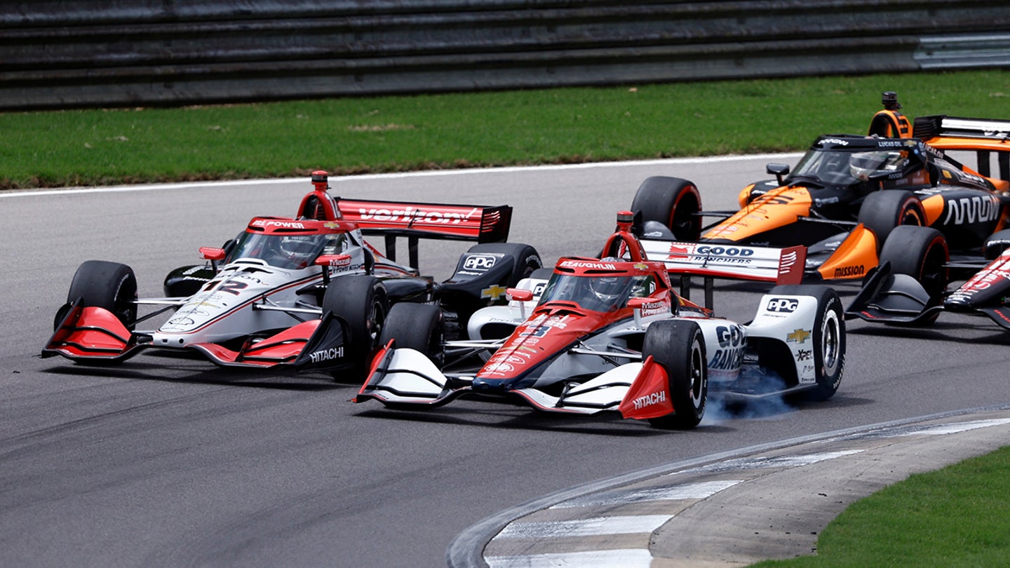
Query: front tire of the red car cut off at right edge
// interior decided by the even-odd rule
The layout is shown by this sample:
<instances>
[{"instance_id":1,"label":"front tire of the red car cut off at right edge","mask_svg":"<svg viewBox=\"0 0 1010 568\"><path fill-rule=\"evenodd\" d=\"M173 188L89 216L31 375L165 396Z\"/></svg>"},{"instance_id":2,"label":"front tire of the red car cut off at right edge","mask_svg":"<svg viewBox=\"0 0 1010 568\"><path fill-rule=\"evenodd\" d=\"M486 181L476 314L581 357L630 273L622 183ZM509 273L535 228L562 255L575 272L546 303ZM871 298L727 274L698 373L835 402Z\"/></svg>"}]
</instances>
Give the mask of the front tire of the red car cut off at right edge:
<instances>
[{"instance_id":1,"label":"front tire of the red car cut off at right edge","mask_svg":"<svg viewBox=\"0 0 1010 568\"><path fill-rule=\"evenodd\" d=\"M918 280L929 294L930 305L938 305L949 281L949 273L944 267L949 258L946 239L940 231L927 226L899 226L884 243L880 264L890 262L894 274L906 274ZM919 324L928 325L938 315L936 312Z\"/></svg>"}]
</instances>

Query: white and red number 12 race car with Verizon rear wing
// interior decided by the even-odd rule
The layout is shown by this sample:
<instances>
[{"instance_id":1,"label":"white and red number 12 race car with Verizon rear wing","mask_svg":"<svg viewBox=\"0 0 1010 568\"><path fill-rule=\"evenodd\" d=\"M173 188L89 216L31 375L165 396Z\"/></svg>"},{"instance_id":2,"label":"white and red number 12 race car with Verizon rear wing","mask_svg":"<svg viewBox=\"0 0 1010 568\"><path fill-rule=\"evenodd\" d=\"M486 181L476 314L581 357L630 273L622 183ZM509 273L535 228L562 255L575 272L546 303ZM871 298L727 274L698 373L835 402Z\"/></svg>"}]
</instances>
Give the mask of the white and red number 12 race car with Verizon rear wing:
<instances>
[{"instance_id":1,"label":"white and red number 12 race car with Verizon rear wing","mask_svg":"<svg viewBox=\"0 0 1010 568\"><path fill-rule=\"evenodd\" d=\"M222 366L364 373L391 304L417 302L466 326L480 307L541 266L527 245L502 243L511 207L334 199L327 174L294 217L256 217L223 248L201 248L206 265L165 280L165 297L137 298L130 267L87 261L58 311L42 357L118 364L148 349L198 352ZM382 234L386 255L364 239ZM396 262L405 238L410 265ZM476 241L445 282L421 277L418 239ZM154 306L138 315L138 308ZM171 312L157 328L136 325Z\"/></svg>"}]
</instances>

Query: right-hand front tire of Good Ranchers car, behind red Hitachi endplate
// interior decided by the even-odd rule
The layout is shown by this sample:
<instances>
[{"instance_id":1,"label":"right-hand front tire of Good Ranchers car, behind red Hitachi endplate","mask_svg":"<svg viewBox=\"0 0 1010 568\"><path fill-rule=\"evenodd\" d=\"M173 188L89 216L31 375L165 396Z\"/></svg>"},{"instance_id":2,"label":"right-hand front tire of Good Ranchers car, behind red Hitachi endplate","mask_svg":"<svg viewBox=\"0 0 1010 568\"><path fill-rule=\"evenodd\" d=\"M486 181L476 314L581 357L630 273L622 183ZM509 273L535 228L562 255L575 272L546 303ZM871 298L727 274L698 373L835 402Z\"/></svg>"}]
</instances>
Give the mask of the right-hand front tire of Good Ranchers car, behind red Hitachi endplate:
<instances>
[{"instance_id":1,"label":"right-hand front tire of Good Ranchers car, behind red Hitachi endplate","mask_svg":"<svg viewBox=\"0 0 1010 568\"><path fill-rule=\"evenodd\" d=\"M705 415L708 399L708 366L701 327L687 320L652 322L645 330L641 349L643 360L650 355L667 370L674 413L648 418L648 423L663 430L695 428Z\"/></svg>"}]
</instances>

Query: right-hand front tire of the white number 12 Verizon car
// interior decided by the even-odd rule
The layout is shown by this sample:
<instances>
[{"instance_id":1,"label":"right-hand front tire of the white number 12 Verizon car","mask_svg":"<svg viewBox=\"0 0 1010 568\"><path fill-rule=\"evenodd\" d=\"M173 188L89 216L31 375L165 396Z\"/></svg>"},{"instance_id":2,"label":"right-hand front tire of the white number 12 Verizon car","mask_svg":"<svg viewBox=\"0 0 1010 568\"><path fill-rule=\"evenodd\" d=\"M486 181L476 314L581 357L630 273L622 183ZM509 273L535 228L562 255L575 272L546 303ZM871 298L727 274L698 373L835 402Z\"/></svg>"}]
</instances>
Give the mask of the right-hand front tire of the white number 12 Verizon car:
<instances>
[{"instance_id":1,"label":"right-hand front tire of the white number 12 Verizon car","mask_svg":"<svg viewBox=\"0 0 1010 568\"><path fill-rule=\"evenodd\" d=\"M334 379L357 381L365 377L372 350L379 345L389 313L389 300L382 281L374 276L337 276L326 286L322 311L330 311L347 323L346 344L350 369L333 371Z\"/></svg>"}]
</instances>

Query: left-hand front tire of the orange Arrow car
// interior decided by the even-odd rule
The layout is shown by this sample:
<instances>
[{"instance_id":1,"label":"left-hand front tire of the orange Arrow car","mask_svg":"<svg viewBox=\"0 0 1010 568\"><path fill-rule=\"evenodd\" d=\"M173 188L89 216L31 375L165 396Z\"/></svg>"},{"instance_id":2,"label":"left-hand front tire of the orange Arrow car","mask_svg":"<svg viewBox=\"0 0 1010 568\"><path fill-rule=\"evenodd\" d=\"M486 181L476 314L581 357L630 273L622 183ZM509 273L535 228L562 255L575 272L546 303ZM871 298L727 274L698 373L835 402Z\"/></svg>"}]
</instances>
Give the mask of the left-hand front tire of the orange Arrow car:
<instances>
[{"instance_id":1,"label":"left-hand front tire of the orange Arrow car","mask_svg":"<svg viewBox=\"0 0 1010 568\"><path fill-rule=\"evenodd\" d=\"M631 212L639 223L659 221L678 241L701 238L701 194L695 184L680 178L645 178L635 191Z\"/></svg>"}]
</instances>

